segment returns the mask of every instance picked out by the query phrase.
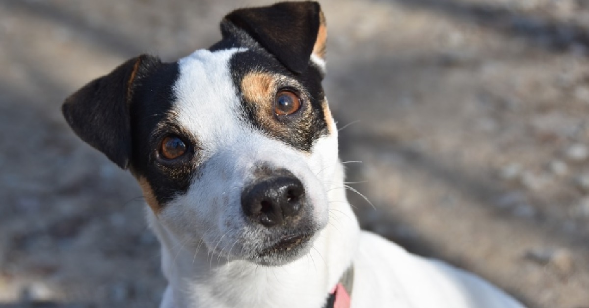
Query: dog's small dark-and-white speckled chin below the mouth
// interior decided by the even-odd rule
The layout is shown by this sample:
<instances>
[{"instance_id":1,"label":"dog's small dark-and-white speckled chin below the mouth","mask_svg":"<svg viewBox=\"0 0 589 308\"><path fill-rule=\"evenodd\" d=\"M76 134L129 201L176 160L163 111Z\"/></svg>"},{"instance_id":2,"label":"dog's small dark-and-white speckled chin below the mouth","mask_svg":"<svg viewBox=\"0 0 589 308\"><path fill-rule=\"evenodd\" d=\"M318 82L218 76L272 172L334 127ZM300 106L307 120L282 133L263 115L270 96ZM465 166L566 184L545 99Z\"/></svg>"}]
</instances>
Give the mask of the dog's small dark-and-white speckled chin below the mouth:
<instances>
[{"instance_id":1,"label":"dog's small dark-and-white speckled chin below the mouth","mask_svg":"<svg viewBox=\"0 0 589 308\"><path fill-rule=\"evenodd\" d=\"M315 234L293 234L283 236L276 243L254 253L250 261L263 266L283 266L309 253Z\"/></svg>"}]
</instances>

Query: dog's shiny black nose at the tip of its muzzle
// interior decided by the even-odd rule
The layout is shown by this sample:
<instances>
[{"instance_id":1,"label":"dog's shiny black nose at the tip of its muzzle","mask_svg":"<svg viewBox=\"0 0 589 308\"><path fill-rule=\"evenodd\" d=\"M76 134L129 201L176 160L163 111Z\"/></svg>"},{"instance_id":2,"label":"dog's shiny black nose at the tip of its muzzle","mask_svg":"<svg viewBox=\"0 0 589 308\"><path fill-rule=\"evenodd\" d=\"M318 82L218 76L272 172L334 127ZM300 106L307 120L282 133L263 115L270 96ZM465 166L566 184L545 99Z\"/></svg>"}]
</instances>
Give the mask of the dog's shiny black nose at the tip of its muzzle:
<instances>
[{"instance_id":1,"label":"dog's shiny black nose at the tip of its muzzle","mask_svg":"<svg viewBox=\"0 0 589 308\"><path fill-rule=\"evenodd\" d=\"M298 178L288 171L276 174L279 175L257 181L241 193L243 212L266 227L296 218L305 201L305 188Z\"/></svg>"}]
</instances>

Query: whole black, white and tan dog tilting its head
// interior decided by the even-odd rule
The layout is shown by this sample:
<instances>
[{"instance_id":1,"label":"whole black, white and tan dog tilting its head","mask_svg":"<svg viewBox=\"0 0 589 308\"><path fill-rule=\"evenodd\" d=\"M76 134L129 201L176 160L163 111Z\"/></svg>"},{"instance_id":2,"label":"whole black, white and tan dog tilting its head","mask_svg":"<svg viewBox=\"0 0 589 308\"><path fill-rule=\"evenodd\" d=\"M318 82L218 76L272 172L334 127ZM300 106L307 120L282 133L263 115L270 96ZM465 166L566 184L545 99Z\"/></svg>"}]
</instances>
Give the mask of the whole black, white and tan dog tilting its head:
<instances>
[{"instance_id":1,"label":"whole black, white and tan dog tilting its head","mask_svg":"<svg viewBox=\"0 0 589 308\"><path fill-rule=\"evenodd\" d=\"M360 231L321 82L316 2L237 9L176 62L129 59L62 105L131 174L161 243L161 308L523 307Z\"/></svg>"}]
</instances>

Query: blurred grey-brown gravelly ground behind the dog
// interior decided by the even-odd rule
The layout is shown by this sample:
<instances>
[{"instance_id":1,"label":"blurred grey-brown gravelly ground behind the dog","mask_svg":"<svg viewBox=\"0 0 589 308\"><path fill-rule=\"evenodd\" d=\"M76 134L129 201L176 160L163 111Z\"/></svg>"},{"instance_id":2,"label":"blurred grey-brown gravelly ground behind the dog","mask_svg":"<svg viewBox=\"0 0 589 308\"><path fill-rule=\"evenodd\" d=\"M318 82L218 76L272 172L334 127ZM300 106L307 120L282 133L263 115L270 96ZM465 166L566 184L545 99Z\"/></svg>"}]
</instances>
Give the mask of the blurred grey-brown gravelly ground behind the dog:
<instances>
[{"instance_id":1,"label":"blurred grey-brown gravelly ground behind the dog","mask_svg":"<svg viewBox=\"0 0 589 308\"><path fill-rule=\"evenodd\" d=\"M327 97L362 226L531 307L589 307L589 1L321 1ZM0 0L0 307L157 307L134 179L59 107L270 1Z\"/></svg>"}]
</instances>

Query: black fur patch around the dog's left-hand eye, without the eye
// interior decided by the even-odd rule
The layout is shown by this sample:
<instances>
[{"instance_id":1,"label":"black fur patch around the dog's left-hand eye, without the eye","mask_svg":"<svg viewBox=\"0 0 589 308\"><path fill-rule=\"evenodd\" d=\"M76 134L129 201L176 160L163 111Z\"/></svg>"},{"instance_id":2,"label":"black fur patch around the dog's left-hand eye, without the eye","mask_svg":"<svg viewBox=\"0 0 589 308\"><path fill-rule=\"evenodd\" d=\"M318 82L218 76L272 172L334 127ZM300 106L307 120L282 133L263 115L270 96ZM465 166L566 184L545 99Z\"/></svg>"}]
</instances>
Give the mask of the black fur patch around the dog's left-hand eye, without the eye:
<instances>
[{"instance_id":1,"label":"black fur patch around the dog's left-hand eye, without the eye","mask_svg":"<svg viewBox=\"0 0 589 308\"><path fill-rule=\"evenodd\" d=\"M180 123L170 118L170 110L177 100L173 85L180 70L177 62L163 64L137 89L131 104L131 131L133 155L131 171L150 184L159 206L164 206L178 194L188 190L196 172L196 140L188 138ZM169 134L178 135L188 144L186 159L166 162L158 159L161 140Z\"/></svg>"}]
</instances>

